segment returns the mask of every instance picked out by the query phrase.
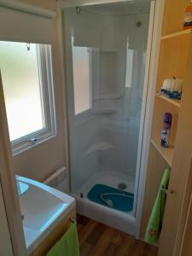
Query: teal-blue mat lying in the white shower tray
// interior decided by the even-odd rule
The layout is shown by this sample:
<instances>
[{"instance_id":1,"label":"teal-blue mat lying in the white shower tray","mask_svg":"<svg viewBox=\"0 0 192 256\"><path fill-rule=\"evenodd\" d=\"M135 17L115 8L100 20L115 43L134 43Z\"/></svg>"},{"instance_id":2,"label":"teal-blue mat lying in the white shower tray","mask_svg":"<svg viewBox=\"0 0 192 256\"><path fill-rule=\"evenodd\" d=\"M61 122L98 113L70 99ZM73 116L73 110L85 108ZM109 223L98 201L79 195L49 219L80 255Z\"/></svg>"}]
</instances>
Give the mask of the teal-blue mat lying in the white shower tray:
<instances>
[{"instance_id":1,"label":"teal-blue mat lying in the white shower tray","mask_svg":"<svg viewBox=\"0 0 192 256\"><path fill-rule=\"evenodd\" d=\"M130 192L125 192L120 189L114 189L112 187L103 185L103 184L96 184L90 189L87 197L90 201L94 201L98 204L101 204L102 206L108 207L108 205L102 201L100 198L100 194L106 194L106 193L117 193L120 195L103 195L105 199L113 201L113 208L122 212L131 212L133 208L133 200L134 200L134 194ZM121 195L130 195L132 197L125 197Z\"/></svg>"}]
</instances>

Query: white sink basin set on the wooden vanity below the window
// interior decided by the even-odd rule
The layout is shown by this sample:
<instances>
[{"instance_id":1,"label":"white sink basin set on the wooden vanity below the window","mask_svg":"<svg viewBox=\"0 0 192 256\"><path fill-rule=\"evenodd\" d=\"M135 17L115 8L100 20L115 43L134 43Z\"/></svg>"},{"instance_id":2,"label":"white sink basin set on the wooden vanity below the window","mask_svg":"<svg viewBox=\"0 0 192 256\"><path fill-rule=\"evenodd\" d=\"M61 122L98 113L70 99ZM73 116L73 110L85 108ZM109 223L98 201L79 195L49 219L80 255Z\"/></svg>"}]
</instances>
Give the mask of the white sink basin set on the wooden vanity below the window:
<instances>
[{"instance_id":1,"label":"white sink basin set on the wooden vanity below the window","mask_svg":"<svg viewBox=\"0 0 192 256\"><path fill-rule=\"evenodd\" d=\"M27 188L19 195L26 249L30 254L73 209L75 200L32 179L16 176L16 180L21 187Z\"/></svg>"}]
</instances>

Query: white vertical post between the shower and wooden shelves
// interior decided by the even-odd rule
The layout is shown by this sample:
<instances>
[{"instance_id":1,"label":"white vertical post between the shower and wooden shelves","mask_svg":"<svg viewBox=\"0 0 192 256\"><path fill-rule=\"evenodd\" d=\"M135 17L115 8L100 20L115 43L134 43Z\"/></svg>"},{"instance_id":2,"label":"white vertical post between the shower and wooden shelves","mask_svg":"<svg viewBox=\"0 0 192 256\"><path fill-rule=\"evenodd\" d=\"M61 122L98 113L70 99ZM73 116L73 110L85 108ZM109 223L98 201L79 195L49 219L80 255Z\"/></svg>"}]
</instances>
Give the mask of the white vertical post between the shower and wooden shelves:
<instances>
[{"instance_id":1,"label":"white vertical post between the shower and wooden shelves","mask_svg":"<svg viewBox=\"0 0 192 256\"><path fill-rule=\"evenodd\" d=\"M146 102L143 107L144 127L143 127L143 144L142 144L142 155L140 162L140 177L138 184L138 195L137 195L137 212L136 212L136 238L140 238L140 228L143 215L143 202L145 194L145 185L148 172L148 154L151 137L151 127L154 111L154 96L155 96L155 85L157 80L159 56L160 56L160 37L163 25L165 0L152 1L151 8L154 9L154 18L151 17L149 24L148 38L148 60L146 63L146 74L144 84L144 94Z\"/></svg>"}]
</instances>

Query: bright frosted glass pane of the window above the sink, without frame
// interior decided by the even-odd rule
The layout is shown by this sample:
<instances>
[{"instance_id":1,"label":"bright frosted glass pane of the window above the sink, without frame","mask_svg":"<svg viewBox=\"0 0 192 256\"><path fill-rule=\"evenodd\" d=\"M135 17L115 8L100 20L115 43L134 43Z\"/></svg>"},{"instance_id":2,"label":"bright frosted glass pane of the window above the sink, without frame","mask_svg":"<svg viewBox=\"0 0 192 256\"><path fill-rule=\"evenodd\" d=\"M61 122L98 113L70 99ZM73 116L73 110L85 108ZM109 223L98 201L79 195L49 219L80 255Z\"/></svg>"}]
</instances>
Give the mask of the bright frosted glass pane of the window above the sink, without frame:
<instances>
[{"instance_id":1,"label":"bright frosted glass pane of the window above the sink, without frame","mask_svg":"<svg viewBox=\"0 0 192 256\"><path fill-rule=\"evenodd\" d=\"M43 129L38 44L0 42L0 68L10 140Z\"/></svg>"}]
</instances>

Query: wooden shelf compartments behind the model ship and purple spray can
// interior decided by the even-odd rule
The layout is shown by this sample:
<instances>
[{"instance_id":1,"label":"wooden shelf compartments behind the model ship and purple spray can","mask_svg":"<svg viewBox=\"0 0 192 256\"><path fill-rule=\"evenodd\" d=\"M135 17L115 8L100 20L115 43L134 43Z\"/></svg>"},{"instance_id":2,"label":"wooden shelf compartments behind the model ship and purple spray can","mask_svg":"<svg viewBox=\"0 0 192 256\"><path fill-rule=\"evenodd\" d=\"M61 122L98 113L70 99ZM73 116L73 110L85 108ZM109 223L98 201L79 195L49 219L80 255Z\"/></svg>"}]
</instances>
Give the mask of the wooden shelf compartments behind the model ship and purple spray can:
<instances>
[{"instance_id":1,"label":"wooden shelf compartments behind the model ship and purple spray can","mask_svg":"<svg viewBox=\"0 0 192 256\"><path fill-rule=\"evenodd\" d=\"M177 77L183 79L187 67L189 53L189 39L191 29L180 29L177 32L170 32L161 37L159 72L157 78L156 91L160 88L165 79ZM177 136L177 119L181 107L181 101L168 98L166 96L155 96L154 118L152 127L152 140L155 150L159 152L163 160L166 160L167 166L172 166L174 157L174 144ZM172 148L160 147L160 133L163 125L164 113L172 113L172 130L170 142ZM155 138L155 139L154 139Z\"/></svg>"}]
</instances>

